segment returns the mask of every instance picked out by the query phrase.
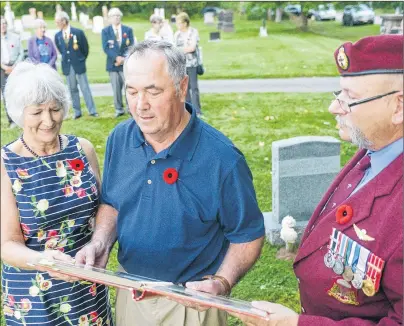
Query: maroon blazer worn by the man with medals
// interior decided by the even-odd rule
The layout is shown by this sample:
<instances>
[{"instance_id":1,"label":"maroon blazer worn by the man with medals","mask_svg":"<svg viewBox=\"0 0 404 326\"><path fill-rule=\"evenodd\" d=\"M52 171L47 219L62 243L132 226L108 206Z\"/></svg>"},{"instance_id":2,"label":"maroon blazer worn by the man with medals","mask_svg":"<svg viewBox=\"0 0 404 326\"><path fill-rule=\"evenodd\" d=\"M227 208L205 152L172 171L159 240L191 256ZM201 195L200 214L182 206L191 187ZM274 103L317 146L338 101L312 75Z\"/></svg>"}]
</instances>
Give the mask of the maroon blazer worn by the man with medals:
<instances>
[{"instance_id":1,"label":"maroon blazer worn by the man with medals","mask_svg":"<svg viewBox=\"0 0 404 326\"><path fill-rule=\"evenodd\" d=\"M336 222L335 207L320 212L341 180L366 154L359 151L342 169L317 206L303 234L294 262L300 287L299 325L401 325L403 319L403 154L342 204L353 209L346 224ZM374 241L360 240L353 224ZM331 296L338 275L324 264L332 228L336 228L385 261L380 288L374 296L351 291L355 304ZM330 290L331 289L331 290ZM354 289L352 289L354 290ZM330 294L328 291L331 291ZM345 288L345 291L346 288ZM352 297L351 297L352 298ZM338 321L338 322L337 322Z\"/></svg>"}]
</instances>

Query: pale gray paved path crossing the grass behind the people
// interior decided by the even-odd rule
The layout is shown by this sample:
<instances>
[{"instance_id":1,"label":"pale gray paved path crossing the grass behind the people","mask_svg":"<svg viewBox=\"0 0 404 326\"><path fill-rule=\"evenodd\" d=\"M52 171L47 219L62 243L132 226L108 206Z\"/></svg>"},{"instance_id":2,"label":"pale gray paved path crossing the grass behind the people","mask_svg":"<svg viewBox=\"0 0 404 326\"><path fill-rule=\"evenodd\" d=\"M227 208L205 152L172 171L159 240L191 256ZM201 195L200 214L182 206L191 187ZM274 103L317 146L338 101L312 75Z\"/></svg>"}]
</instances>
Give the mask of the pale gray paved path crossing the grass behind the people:
<instances>
[{"instance_id":1,"label":"pale gray paved path crossing the grass behind the people","mask_svg":"<svg viewBox=\"0 0 404 326\"><path fill-rule=\"evenodd\" d=\"M93 96L112 96L111 84L90 85ZM200 80L201 93L322 93L339 89L339 77Z\"/></svg>"}]
</instances>

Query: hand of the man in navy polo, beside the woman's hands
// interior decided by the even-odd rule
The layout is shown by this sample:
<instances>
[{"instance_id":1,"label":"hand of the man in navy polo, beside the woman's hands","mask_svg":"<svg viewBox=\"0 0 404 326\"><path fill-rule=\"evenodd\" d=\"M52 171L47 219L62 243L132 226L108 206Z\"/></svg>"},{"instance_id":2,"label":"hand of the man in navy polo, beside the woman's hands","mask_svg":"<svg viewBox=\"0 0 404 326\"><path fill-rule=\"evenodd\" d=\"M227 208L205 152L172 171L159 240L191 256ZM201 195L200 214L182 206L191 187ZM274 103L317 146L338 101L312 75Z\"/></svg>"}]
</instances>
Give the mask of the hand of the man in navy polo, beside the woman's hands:
<instances>
[{"instance_id":1,"label":"hand of the man in navy polo, beside the woman's hands","mask_svg":"<svg viewBox=\"0 0 404 326\"><path fill-rule=\"evenodd\" d=\"M76 263L105 268L108 263L109 250L101 241L90 241L76 254Z\"/></svg>"}]
</instances>

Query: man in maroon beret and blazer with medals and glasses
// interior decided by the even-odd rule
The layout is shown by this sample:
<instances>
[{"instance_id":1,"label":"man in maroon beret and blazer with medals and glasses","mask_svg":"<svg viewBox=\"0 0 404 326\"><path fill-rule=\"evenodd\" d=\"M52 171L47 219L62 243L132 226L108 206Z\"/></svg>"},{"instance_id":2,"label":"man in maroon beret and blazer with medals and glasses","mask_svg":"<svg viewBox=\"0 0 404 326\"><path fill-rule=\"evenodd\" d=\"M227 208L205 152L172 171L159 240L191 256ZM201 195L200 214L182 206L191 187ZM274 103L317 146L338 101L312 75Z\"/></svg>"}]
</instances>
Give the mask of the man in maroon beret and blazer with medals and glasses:
<instances>
[{"instance_id":1,"label":"man in maroon beret and blazer with medals and glasses","mask_svg":"<svg viewBox=\"0 0 404 326\"><path fill-rule=\"evenodd\" d=\"M401 325L403 321L403 36L365 37L334 53L329 111L359 151L314 211L293 265L301 313L253 302L246 325Z\"/></svg>"}]
</instances>

